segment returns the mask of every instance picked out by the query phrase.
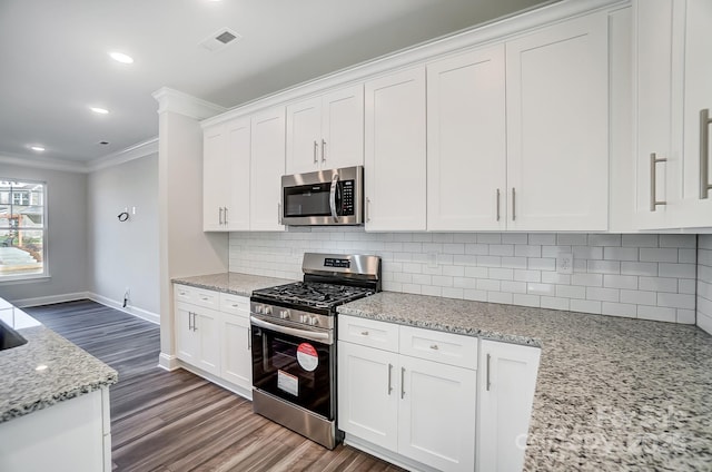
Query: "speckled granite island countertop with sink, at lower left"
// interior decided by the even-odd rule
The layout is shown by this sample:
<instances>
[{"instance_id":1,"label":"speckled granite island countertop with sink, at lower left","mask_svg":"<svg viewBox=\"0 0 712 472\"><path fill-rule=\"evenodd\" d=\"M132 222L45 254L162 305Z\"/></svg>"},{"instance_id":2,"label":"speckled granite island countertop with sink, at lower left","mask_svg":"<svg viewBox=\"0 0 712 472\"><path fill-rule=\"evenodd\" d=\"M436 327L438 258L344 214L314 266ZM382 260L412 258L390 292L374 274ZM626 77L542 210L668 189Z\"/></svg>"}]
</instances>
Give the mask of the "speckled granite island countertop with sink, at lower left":
<instances>
[{"instance_id":1,"label":"speckled granite island countertop with sink, at lower left","mask_svg":"<svg viewBox=\"0 0 712 472\"><path fill-rule=\"evenodd\" d=\"M0 423L117 383L113 368L4 305L0 319L28 342L0 351Z\"/></svg>"}]
</instances>

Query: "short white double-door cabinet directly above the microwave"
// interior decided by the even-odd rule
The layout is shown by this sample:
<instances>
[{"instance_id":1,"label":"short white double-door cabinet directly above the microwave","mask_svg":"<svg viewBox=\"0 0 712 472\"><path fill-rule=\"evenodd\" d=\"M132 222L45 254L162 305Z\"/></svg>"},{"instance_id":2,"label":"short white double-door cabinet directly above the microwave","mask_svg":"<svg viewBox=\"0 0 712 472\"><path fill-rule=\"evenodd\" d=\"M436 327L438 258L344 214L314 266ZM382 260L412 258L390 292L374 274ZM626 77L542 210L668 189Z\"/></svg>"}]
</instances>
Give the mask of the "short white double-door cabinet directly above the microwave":
<instances>
[{"instance_id":1,"label":"short white double-door cabinet directly above the microwave","mask_svg":"<svg viewBox=\"0 0 712 472\"><path fill-rule=\"evenodd\" d=\"M363 164L363 85L287 107L287 174Z\"/></svg>"}]
</instances>

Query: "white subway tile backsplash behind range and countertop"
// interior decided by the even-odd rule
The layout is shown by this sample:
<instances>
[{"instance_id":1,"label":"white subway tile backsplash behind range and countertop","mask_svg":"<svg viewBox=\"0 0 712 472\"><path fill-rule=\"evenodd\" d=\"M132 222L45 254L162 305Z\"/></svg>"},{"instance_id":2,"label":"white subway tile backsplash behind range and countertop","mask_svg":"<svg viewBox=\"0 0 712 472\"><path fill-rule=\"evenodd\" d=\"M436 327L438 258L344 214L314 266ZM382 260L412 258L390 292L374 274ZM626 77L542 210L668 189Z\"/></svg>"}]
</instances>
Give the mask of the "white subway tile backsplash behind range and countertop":
<instances>
[{"instance_id":1,"label":"white subway tile backsplash behind range and countertop","mask_svg":"<svg viewBox=\"0 0 712 472\"><path fill-rule=\"evenodd\" d=\"M305 252L379 255L385 291L695 323L695 235L290 228L231 233L229 268L301 278ZM556 273L560 252L573 275Z\"/></svg>"}]
</instances>

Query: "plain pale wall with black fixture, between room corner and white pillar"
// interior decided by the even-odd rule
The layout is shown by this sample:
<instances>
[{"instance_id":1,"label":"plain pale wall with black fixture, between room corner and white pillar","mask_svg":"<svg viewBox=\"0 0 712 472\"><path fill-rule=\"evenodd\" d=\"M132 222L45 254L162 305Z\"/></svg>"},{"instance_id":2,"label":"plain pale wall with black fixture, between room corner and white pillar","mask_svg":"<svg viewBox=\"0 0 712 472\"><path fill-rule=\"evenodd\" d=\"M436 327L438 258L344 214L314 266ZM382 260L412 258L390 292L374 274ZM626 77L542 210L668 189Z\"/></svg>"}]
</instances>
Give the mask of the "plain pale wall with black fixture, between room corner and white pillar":
<instances>
[{"instance_id":1,"label":"plain pale wall with black fixture, between room corner and white pillar","mask_svg":"<svg viewBox=\"0 0 712 472\"><path fill-rule=\"evenodd\" d=\"M87 199L91 296L120 307L129 287L127 311L158 322L158 154L90 174Z\"/></svg>"}]
</instances>

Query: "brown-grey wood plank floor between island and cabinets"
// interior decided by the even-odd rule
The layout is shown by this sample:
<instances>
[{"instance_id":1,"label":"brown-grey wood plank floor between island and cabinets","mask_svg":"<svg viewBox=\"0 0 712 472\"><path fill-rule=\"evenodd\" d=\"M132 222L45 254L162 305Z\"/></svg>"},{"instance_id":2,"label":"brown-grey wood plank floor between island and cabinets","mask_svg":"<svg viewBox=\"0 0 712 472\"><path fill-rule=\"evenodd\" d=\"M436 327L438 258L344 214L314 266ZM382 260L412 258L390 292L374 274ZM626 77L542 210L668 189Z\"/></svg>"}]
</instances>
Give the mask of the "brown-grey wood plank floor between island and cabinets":
<instances>
[{"instance_id":1,"label":"brown-grey wood plank floor between island and cabinets","mask_svg":"<svg viewBox=\"0 0 712 472\"><path fill-rule=\"evenodd\" d=\"M328 451L184 370L157 367L158 326L90 301L26 308L119 372L111 387L115 471L400 471L353 448Z\"/></svg>"}]
</instances>

